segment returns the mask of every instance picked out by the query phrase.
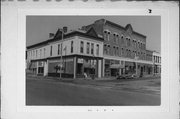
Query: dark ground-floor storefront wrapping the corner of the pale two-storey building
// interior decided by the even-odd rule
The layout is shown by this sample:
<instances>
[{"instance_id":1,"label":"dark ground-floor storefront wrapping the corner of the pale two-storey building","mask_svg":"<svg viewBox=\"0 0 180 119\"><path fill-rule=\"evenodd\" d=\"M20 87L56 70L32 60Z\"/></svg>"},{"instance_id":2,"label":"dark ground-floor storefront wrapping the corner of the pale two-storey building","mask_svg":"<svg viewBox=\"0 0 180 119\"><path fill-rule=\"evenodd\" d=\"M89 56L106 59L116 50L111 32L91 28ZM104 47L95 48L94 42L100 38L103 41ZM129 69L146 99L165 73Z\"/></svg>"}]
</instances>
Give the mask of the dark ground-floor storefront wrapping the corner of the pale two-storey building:
<instances>
[{"instance_id":1,"label":"dark ground-floor storefront wrapping the corner of the pale two-storey building","mask_svg":"<svg viewBox=\"0 0 180 119\"><path fill-rule=\"evenodd\" d=\"M84 78L85 74L88 77L94 75L95 77L101 77L101 62L97 57L84 57L84 56L72 56L63 57L62 60L62 77L66 78ZM60 76L60 59L48 60L48 76ZM99 71L98 71L99 70Z\"/></svg>"}]
</instances>

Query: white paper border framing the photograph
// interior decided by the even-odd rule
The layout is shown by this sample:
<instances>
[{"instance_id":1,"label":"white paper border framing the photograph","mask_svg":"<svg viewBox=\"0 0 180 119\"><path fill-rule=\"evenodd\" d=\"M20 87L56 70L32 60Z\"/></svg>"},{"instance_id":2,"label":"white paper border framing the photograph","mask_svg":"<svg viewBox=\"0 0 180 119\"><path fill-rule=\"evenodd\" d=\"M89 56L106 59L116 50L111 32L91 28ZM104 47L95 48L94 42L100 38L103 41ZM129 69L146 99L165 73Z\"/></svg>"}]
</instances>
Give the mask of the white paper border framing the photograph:
<instances>
[{"instance_id":1,"label":"white paper border framing the photograph","mask_svg":"<svg viewBox=\"0 0 180 119\"><path fill-rule=\"evenodd\" d=\"M61 4L61 5L59 5ZM16 1L2 3L1 8L1 117L32 118L146 118L178 117L179 99L179 15L178 7L169 3L122 2L32 3ZM72 5L74 4L74 5ZM42 5L42 6L38 6ZM52 5L50 7L50 5ZM53 6L54 5L54 6ZM64 6L63 6L64 5ZM86 6L87 5L87 6ZM75 7L76 6L76 7ZM126 8L127 7L127 8ZM152 13L149 14L149 9ZM178 10L179 11L179 10ZM25 51L27 15L123 15L161 16L161 105L160 106L26 106ZM11 68L9 68L11 67ZM11 74L11 75L10 75ZM97 111L98 109L98 111ZM83 113L82 113L83 112Z\"/></svg>"}]
</instances>

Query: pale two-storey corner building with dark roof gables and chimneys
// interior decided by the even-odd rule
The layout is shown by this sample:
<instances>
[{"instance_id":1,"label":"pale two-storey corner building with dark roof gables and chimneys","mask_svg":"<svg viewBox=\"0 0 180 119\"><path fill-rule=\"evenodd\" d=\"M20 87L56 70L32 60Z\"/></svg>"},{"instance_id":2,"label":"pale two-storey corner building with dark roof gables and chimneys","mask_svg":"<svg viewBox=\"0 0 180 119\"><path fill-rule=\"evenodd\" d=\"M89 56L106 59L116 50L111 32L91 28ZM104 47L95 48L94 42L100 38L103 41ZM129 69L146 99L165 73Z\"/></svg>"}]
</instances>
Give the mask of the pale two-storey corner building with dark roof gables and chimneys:
<instances>
[{"instance_id":1,"label":"pale two-storey corner building with dark roof gables and chimneys","mask_svg":"<svg viewBox=\"0 0 180 119\"><path fill-rule=\"evenodd\" d=\"M73 31L62 40L57 32L53 39L27 47L28 69L44 76L59 76L61 71L63 77L101 77L103 39L89 33Z\"/></svg>"}]
</instances>

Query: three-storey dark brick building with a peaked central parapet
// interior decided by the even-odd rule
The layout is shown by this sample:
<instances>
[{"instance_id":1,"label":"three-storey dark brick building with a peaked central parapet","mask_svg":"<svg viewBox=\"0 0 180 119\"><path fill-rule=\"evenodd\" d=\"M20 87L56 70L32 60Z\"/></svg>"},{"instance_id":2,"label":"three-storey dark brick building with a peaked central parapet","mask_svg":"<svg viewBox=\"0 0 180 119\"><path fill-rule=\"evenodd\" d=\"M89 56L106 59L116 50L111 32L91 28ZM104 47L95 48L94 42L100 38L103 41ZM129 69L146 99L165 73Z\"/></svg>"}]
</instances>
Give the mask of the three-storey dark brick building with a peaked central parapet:
<instances>
[{"instance_id":1,"label":"three-storey dark brick building with a peaked central parapet","mask_svg":"<svg viewBox=\"0 0 180 119\"><path fill-rule=\"evenodd\" d=\"M100 19L83 26L94 28L104 38L103 77L117 74L152 75L152 51L146 50L146 36L133 30L131 24L122 27L111 21Z\"/></svg>"}]
</instances>

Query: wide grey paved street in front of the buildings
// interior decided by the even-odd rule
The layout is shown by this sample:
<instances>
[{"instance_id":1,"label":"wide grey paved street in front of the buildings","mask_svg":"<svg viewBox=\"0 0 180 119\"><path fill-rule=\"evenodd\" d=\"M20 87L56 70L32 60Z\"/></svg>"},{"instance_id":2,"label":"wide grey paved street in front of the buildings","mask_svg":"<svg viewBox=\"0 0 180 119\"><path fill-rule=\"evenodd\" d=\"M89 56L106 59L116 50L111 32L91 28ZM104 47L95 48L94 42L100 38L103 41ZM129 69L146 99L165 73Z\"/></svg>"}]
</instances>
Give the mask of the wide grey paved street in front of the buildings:
<instances>
[{"instance_id":1,"label":"wide grey paved street in front of the buildings","mask_svg":"<svg viewBox=\"0 0 180 119\"><path fill-rule=\"evenodd\" d=\"M26 105L160 105L160 79L132 81L26 79Z\"/></svg>"}]
</instances>

